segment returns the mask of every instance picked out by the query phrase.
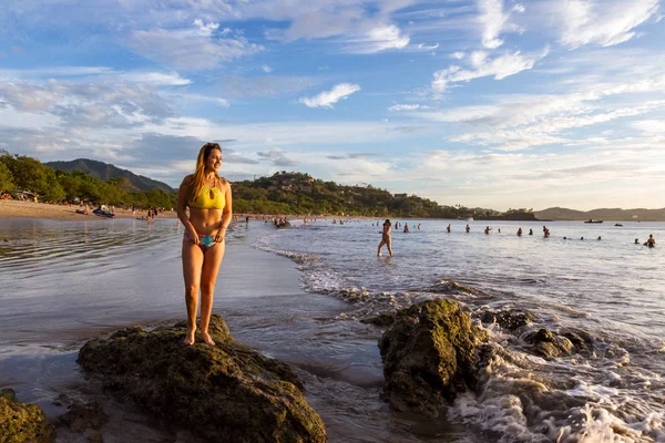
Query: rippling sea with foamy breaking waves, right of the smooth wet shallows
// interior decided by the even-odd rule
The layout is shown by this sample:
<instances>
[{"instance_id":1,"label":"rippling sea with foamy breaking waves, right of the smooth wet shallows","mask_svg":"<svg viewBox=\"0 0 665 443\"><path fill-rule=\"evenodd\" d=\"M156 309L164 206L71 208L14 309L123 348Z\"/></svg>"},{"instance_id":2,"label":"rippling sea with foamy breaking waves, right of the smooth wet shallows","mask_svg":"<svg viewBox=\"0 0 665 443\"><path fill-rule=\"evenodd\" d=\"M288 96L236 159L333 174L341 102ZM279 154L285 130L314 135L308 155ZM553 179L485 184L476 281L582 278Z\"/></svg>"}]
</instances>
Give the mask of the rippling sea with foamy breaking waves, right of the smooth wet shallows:
<instances>
[{"instance_id":1,"label":"rippling sea with foamy breaking waves, right of the smooth wet shallows","mask_svg":"<svg viewBox=\"0 0 665 443\"><path fill-rule=\"evenodd\" d=\"M405 222L410 233L393 230L393 257L376 257L372 220L297 226L258 247L293 258L308 290L350 301L345 319L441 297L438 284L452 279L481 290L446 291L474 318L520 308L538 316L534 328L592 337L591 356L546 361L521 337L487 326L497 357L479 392L451 409L454 423L502 441L665 441L665 254L634 244L665 238L665 224L546 223L544 238L543 223L491 223L485 235L481 222L469 223L469 234L467 222Z\"/></svg>"}]
</instances>

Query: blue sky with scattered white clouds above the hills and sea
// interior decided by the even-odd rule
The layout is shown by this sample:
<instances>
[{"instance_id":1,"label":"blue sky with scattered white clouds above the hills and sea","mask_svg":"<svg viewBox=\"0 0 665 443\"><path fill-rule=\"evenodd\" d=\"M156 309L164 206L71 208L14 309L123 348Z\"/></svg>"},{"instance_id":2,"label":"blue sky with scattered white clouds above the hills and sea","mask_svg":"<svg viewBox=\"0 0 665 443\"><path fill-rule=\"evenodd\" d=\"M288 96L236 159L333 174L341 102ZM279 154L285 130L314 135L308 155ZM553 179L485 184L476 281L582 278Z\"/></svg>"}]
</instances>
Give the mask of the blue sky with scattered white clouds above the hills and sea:
<instances>
[{"instance_id":1,"label":"blue sky with scattered white clouds above the hills and sea","mask_svg":"<svg viewBox=\"0 0 665 443\"><path fill-rule=\"evenodd\" d=\"M0 148L177 187L301 172L442 205L665 206L659 0L2 0Z\"/></svg>"}]
</instances>

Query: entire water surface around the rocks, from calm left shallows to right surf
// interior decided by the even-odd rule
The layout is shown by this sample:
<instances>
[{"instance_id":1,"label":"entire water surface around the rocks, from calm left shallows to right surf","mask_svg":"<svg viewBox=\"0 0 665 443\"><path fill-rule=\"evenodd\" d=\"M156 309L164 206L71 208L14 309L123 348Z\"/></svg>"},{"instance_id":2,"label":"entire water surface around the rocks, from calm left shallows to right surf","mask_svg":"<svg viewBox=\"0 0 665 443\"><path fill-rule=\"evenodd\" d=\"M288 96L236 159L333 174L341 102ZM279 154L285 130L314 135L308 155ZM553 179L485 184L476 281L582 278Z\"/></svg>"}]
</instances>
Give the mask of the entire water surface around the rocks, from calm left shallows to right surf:
<instances>
[{"instance_id":1,"label":"entire water surface around the rocks, from calm left shallows to right surf","mask_svg":"<svg viewBox=\"0 0 665 443\"><path fill-rule=\"evenodd\" d=\"M665 253L633 244L665 239L665 224L546 223L543 238L542 223L492 223L484 235L480 222L469 234L467 222L402 222L411 233L393 231L393 257L376 256L372 220L279 230L252 220L227 238L214 311L296 369L331 442L665 441ZM520 226L534 235L516 237ZM0 220L0 388L50 416L63 395L101 399L109 442L186 432L105 398L75 364L91 337L184 317L182 234L173 219ZM533 328L574 329L593 352L545 360L481 324L495 353L478 392L438 421L397 414L380 399L381 330L359 320L434 297L458 300L478 324L488 309L528 310Z\"/></svg>"}]
</instances>

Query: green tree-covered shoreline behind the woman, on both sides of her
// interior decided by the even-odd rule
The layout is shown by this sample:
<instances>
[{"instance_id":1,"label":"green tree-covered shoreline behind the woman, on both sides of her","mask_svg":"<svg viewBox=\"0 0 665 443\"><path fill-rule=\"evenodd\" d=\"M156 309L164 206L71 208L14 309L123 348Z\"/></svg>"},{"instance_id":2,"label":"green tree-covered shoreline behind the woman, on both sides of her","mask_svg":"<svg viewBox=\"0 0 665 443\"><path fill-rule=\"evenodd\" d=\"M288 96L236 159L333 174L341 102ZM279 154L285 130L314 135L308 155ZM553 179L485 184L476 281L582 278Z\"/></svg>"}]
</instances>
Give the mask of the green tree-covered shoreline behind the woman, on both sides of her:
<instances>
[{"instance_id":1,"label":"green tree-covered shoreline behind the woman, on both sides of her","mask_svg":"<svg viewBox=\"0 0 665 443\"><path fill-rule=\"evenodd\" d=\"M366 217L534 219L532 209L499 213L462 205L439 205L417 195L391 194L371 185L342 186L308 174L278 172L269 177L233 183L236 213L313 214ZM124 177L99 181L81 171L66 173L24 155L0 151L0 192L16 189L39 195L43 202L175 208L177 193L140 192Z\"/></svg>"}]
</instances>

